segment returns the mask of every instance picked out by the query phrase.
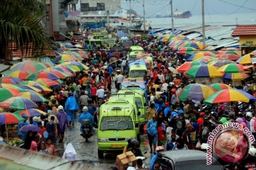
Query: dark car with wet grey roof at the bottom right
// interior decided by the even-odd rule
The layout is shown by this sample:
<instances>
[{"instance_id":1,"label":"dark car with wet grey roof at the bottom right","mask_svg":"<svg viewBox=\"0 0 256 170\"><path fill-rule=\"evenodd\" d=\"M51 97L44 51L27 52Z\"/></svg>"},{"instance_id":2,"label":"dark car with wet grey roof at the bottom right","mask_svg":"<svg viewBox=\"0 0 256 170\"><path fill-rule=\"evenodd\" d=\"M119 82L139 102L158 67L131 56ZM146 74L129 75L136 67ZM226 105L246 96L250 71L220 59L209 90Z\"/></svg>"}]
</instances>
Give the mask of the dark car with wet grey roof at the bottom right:
<instances>
[{"instance_id":1,"label":"dark car with wet grey roof at the bottom right","mask_svg":"<svg viewBox=\"0 0 256 170\"><path fill-rule=\"evenodd\" d=\"M223 170L218 162L207 165L207 153L199 150L160 152L155 161L163 170Z\"/></svg>"}]
</instances>

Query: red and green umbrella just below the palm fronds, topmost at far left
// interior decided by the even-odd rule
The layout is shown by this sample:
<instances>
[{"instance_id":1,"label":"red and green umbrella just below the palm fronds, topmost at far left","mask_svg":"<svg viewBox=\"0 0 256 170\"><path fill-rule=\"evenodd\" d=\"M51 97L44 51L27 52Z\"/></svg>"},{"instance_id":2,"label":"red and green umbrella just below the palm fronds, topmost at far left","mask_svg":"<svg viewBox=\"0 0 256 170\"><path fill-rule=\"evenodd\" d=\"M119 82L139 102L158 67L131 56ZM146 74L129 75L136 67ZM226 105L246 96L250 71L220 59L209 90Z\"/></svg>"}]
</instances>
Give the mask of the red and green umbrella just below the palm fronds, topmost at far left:
<instances>
[{"instance_id":1,"label":"red and green umbrella just below the palm fronds, topmost at far left","mask_svg":"<svg viewBox=\"0 0 256 170\"><path fill-rule=\"evenodd\" d=\"M32 73L36 71L40 71L46 68L45 65L35 62L35 61L24 61L24 62L19 62L12 67L10 67L10 70L15 71L15 70L23 70L23 71L30 71Z\"/></svg>"}]
</instances>

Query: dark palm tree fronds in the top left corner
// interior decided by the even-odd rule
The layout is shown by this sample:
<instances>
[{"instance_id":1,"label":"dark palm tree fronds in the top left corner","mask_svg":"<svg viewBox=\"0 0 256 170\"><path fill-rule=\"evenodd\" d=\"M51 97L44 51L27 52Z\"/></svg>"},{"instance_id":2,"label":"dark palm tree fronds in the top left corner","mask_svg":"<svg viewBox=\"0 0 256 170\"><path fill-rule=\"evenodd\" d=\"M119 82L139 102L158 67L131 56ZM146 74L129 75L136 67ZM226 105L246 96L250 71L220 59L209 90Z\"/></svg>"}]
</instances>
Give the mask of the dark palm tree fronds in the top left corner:
<instances>
[{"instance_id":1,"label":"dark palm tree fronds in the top left corner","mask_svg":"<svg viewBox=\"0 0 256 170\"><path fill-rule=\"evenodd\" d=\"M41 0L1 0L1 59L12 60L12 50L40 55L50 48L51 39L44 34L40 23L44 14L45 4Z\"/></svg>"}]
</instances>

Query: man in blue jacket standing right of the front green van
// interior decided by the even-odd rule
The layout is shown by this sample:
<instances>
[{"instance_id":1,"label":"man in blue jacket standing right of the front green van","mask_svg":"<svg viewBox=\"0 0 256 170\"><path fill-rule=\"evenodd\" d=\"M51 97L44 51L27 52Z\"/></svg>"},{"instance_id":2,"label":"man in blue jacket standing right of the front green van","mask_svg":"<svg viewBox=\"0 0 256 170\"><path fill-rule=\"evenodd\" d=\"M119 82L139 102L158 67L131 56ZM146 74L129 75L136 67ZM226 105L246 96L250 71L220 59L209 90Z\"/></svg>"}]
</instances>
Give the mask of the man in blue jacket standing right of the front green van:
<instances>
[{"instance_id":1,"label":"man in blue jacket standing right of the front green van","mask_svg":"<svg viewBox=\"0 0 256 170\"><path fill-rule=\"evenodd\" d=\"M155 154L157 147L157 116L154 114L152 119L148 121L147 124L147 132L148 132L148 142L150 147L150 153ZM154 146L154 151L152 150L152 144Z\"/></svg>"}]
</instances>

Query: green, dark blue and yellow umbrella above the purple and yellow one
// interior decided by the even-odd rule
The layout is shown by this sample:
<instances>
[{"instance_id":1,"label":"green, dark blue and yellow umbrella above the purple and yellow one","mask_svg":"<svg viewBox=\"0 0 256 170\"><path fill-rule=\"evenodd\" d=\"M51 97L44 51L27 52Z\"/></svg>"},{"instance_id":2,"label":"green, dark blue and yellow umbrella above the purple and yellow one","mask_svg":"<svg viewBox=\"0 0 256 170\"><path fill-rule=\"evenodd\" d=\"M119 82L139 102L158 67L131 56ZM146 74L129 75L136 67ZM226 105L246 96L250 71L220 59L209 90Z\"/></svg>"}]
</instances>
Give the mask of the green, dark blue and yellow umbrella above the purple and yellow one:
<instances>
[{"instance_id":1,"label":"green, dark blue and yellow umbrella above the purple and yellow one","mask_svg":"<svg viewBox=\"0 0 256 170\"><path fill-rule=\"evenodd\" d=\"M217 68L212 65L195 65L186 71L185 74L193 78L214 78L223 76L223 74L217 71Z\"/></svg>"}]
</instances>

